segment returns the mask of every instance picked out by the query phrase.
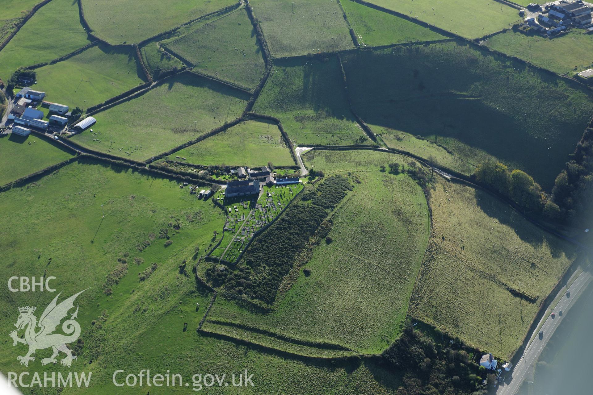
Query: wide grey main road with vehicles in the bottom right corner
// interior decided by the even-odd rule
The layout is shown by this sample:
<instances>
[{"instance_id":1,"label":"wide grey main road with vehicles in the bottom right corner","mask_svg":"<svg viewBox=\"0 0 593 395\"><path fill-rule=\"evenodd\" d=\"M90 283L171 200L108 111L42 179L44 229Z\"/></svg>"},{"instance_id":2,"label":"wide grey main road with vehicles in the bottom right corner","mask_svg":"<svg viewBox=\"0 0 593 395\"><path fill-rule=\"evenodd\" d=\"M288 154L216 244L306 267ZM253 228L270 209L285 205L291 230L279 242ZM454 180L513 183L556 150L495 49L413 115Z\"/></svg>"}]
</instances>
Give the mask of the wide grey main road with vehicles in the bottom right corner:
<instances>
[{"instance_id":1,"label":"wide grey main road with vehicles in the bottom right corner","mask_svg":"<svg viewBox=\"0 0 593 395\"><path fill-rule=\"evenodd\" d=\"M515 365L511 371L512 375L507 375L505 383L503 383L498 390L496 395L515 395L521 387L523 380L531 380L530 375L533 373L534 365L537 363L537 359L541 354L541 351L550 340L554 331L560 325L565 314L568 312L570 307L575 304L576 300L581 296L589 282L591 282L590 266L587 266L576 280L570 285L568 290L564 290L562 298L552 310L556 314L556 317L552 317L551 314L546 318L544 316L542 320L545 320L543 325L538 325L532 333L533 340L525 349L521 359ZM562 316L560 316L562 311ZM541 324L541 322L540 322ZM543 336L540 339L538 332L543 332Z\"/></svg>"}]
</instances>

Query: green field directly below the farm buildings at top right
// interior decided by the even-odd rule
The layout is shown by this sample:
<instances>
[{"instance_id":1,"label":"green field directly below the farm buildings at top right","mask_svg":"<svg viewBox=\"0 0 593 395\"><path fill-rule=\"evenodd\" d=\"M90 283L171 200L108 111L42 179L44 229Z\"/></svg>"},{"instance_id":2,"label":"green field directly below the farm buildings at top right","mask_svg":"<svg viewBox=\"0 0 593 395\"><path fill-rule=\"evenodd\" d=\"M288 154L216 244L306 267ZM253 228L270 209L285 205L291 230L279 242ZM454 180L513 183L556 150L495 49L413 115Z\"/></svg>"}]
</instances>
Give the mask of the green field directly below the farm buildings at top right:
<instances>
[{"instance_id":1,"label":"green field directly below the farm buildings at top right","mask_svg":"<svg viewBox=\"0 0 593 395\"><path fill-rule=\"evenodd\" d=\"M552 40L506 31L490 37L486 46L559 74L572 75L593 64L593 38L578 29Z\"/></svg>"}]
</instances>

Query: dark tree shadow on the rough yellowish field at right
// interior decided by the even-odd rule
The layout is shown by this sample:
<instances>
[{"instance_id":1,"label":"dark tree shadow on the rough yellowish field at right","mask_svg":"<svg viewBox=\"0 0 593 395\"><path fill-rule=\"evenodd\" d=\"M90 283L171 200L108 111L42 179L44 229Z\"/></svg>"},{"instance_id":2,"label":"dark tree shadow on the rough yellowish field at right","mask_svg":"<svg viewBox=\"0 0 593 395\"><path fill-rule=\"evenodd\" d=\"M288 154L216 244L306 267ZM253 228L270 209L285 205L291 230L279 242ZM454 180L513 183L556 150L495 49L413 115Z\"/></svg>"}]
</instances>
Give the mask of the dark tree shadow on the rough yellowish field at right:
<instances>
[{"instance_id":1,"label":"dark tree shadow on the rough yellowish field at right","mask_svg":"<svg viewBox=\"0 0 593 395\"><path fill-rule=\"evenodd\" d=\"M476 190L476 203L480 210L484 211L489 217L495 218L501 224L511 227L521 240L529 243L535 249L540 249L544 243L547 243L554 258L558 258L563 254L568 258L574 258L575 252L572 248L568 250L565 248L566 242L541 230L515 211L514 208L498 201L487 192Z\"/></svg>"}]
</instances>

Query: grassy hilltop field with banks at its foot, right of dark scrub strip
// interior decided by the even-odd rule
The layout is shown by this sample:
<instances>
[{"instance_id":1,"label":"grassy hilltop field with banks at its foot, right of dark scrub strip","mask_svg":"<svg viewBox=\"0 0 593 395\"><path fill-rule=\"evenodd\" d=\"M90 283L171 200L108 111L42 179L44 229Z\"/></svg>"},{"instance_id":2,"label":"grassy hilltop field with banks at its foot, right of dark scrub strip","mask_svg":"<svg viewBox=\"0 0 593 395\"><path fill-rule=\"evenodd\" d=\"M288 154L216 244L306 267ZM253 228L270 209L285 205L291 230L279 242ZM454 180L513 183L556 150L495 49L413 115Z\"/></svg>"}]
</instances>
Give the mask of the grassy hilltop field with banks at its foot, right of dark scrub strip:
<instances>
[{"instance_id":1,"label":"grassy hilltop field with banks at its foot, right of dark scrub strip","mask_svg":"<svg viewBox=\"0 0 593 395\"><path fill-rule=\"evenodd\" d=\"M247 313L221 298L209 318L263 327L297 339L340 344L356 352L380 352L401 329L428 242L425 197L408 176L380 172L380 165L404 160L399 155L366 150L314 151L305 158L309 166L326 175L354 173L358 167L361 184L356 184L330 214L334 224L329 236L333 242L315 247L311 261L304 266L310 269L310 277L300 272L272 313ZM275 341L209 322L204 327L260 342ZM281 349L294 348L305 354L345 354L279 343Z\"/></svg>"}]
</instances>

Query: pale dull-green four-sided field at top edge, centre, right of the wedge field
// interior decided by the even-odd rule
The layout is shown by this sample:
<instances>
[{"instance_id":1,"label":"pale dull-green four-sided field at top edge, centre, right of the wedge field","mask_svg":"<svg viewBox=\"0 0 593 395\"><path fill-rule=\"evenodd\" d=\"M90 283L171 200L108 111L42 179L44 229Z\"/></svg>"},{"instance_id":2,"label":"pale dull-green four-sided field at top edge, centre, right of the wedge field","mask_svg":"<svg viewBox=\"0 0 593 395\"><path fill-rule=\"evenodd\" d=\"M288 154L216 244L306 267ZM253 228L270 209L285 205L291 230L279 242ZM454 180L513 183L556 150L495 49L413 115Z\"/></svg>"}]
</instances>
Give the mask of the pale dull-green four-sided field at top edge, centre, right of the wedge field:
<instances>
[{"instance_id":1,"label":"pale dull-green four-sided field at top edge, centre, right of the wedge field","mask_svg":"<svg viewBox=\"0 0 593 395\"><path fill-rule=\"evenodd\" d=\"M335 1L254 0L250 4L276 57L354 47Z\"/></svg>"}]
</instances>

